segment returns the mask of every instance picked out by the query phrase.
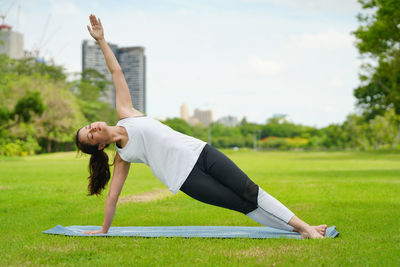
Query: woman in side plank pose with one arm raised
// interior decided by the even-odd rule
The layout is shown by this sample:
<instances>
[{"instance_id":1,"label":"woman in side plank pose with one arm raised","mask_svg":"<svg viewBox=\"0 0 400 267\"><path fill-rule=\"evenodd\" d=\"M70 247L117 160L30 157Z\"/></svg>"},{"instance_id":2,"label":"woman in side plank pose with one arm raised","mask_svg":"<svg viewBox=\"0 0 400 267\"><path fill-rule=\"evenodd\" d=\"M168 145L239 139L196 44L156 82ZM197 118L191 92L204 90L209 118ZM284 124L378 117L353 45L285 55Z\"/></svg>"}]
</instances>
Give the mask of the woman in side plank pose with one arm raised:
<instances>
[{"instance_id":1,"label":"woman in side plank pose with one arm raised","mask_svg":"<svg viewBox=\"0 0 400 267\"><path fill-rule=\"evenodd\" d=\"M89 234L107 233L131 162L145 163L173 193L179 190L208 204L241 212L260 224L297 231L304 238L322 238L326 225L309 226L253 183L230 159L196 138L181 134L134 109L123 72L104 40L100 19L89 17L90 35L98 42L116 90L121 119L116 126L94 122L77 131L76 144L91 154L89 194L100 194L110 179L108 156L103 151L116 143L114 173L105 205L103 227Z\"/></svg>"}]
</instances>

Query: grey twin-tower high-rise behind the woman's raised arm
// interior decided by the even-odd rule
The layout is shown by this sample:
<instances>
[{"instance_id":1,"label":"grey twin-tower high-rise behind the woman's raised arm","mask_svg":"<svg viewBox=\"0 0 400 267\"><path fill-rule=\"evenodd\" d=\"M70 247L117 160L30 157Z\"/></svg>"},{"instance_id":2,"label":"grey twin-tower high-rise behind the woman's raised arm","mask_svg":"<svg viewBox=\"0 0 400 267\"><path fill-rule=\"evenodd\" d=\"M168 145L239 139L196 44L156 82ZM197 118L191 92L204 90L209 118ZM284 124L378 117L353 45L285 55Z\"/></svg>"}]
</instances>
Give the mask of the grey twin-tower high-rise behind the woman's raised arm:
<instances>
[{"instance_id":1,"label":"grey twin-tower high-rise behind the woman's raised arm","mask_svg":"<svg viewBox=\"0 0 400 267\"><path fill-rule=\"evenodd\" d=\"M119 48L110 43L109 46L124 72L133 106L141 112L146 112L146 57L144 48ZM82 43L82 71L87 68L97 70L108 81L112 82L112 75L107 68L103 52L97 42L92 40L84 40ZM113 85L109 86L103 100L115 106L115 88Z\"/></svg>"}]
</instances>

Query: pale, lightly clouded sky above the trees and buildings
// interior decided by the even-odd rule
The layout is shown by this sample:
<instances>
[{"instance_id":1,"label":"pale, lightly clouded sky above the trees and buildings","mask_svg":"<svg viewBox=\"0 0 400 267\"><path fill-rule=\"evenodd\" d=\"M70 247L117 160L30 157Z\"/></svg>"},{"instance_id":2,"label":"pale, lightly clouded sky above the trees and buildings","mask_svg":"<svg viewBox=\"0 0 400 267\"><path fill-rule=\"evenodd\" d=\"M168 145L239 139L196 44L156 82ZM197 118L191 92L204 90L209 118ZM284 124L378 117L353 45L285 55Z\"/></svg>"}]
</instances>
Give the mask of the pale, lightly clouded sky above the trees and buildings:
<instances>
[{"instance_id":1,"label":"pale, lightly clouded sky above the trees and buildings","mask_svg":"<svg viewBox=\"0 0 400 267\"><path fill-rule=\"evenodd\" d=\"M356 0L14 1L6 23L25 50L39 47L68 73L82 70L91 13L108 42L144 46L151 117L179 117L186 103L215 119L287 114L324 127L355 112ZM11 3L0 0L0 14Z\"/></svg>"}]
</instances>

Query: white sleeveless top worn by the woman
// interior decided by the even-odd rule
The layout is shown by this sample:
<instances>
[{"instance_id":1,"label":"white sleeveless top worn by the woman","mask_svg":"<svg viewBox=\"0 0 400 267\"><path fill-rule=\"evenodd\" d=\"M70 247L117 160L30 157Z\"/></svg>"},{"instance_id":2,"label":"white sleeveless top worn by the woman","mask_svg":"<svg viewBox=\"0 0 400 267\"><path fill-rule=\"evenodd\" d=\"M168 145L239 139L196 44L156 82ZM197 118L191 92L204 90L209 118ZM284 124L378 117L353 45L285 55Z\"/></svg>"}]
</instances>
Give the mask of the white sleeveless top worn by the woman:
<instances>
[{"instance_id":1,"label":"white sleeveless top worn by the woman","mask_svg":"<svg viewBox=\"0 0 400 267\"><path fill-rule=\"evenodd\" d=\"M153 174L176 194L189 176L206 142L174 131L161 122L143 116L118 121L129 136L117 151L127 162L145 163Z\"/></svg>"}]
</instances>

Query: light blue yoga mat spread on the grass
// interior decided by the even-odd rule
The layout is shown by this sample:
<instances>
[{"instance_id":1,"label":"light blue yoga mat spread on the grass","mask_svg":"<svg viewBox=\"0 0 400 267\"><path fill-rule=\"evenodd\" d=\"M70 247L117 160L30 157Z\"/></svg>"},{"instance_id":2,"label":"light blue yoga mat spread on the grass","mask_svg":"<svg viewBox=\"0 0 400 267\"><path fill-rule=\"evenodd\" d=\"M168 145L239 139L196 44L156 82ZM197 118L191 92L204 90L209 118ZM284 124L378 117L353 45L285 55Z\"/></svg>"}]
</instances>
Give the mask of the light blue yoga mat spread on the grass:
<instances>
[{"instance_id":1,"label":"light blue yoga mat spread on the grass","mask_svg":"<svg viewBox=\"0 0 400 267\"><path fill-rule=\"evenodd\" d=\"M136 237L208 237L208 238L295 238L301 239L297 232L279 230L271 227L243 226L128 226L110 227L107 234L83 234L87 230L100 230L101 226L57 225L44 231L44 234L66 236L136 236ZM335 226L326 230L327 237L337 237Z\"/></svg>"}]
</instances>

